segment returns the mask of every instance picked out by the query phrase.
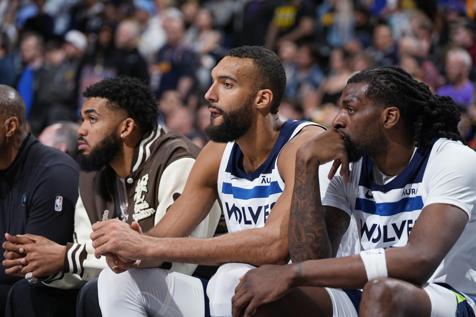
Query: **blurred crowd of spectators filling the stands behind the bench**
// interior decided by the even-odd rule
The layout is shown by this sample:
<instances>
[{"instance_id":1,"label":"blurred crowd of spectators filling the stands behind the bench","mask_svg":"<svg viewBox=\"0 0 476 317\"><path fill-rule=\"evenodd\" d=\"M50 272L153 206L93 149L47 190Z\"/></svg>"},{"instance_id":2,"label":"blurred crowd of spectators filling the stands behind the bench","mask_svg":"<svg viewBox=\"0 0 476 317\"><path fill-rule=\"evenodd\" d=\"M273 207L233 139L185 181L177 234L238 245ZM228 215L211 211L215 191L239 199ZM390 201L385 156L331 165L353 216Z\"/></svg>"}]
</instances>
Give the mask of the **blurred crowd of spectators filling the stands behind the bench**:
<instances>
[{"instance_id":1,"label":"blurred crowd of spectators filling the stands behind the bench","mask_svg":"<svg viewBox=\"0 0 476 317\"><path fill-rule=\"evenodd\" d=\"M288 85L279 114L330 126L347 80L396 65L461 110L476 146L475 0L0 0L0 84L30 131L77 122L81 92L106 77L153 89L166 130L202 147L210 71L241 45L274 50ZM130 96L134 98L134 96ZM402 96L405 98L405 96ZM74 126L74 125L73 125Z\"/></svg>"}]
</instances>

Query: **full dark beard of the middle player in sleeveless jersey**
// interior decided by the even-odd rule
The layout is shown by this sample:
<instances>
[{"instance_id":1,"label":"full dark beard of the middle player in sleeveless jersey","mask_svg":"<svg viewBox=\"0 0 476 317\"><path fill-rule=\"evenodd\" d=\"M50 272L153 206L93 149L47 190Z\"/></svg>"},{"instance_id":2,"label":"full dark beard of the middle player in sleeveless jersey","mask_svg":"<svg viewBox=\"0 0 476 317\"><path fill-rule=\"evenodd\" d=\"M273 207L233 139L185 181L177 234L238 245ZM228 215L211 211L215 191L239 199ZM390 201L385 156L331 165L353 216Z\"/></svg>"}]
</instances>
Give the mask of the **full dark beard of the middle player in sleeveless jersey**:
<instances>
[{"instance_id":1,"label":"full dark beard of the middle player in sleeveless jersey","mask_svg":"<svg viewBox=\"0 0 476 317\"><path fill-rule=\"evenodd\" d=\"M210 105L209 108L217 109L222 113L222 123L214 125L214 117L211 117L210 124L205 128L205 133L210 140L218 143L235 141L242 137L251 126L251 104L254 96L250 96L238 109L225 112L222 108Z\"/></svg>"}]
</instances>

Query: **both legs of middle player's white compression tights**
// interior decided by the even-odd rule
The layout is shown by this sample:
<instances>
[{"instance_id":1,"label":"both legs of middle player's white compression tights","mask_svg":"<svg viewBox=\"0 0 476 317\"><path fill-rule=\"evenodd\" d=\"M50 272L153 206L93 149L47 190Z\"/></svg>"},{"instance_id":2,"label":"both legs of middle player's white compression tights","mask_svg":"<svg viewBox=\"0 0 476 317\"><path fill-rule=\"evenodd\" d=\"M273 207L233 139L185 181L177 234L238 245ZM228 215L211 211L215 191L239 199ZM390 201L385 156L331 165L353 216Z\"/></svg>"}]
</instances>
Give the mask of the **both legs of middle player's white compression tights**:
<instances>
[{"instance_id":1,"label":"both legs of middle player's white compression tights","mask_svg":"<svg viewBox=\"0 0 476 317\"><path fill-rule=\"evenodd\" d=\"M255 266L220 266L207 287L212 317L232 316L232 297L239 277ZM205 314L203 286L198 278L160 268L130 269L116 274L109 267L98 280L104 317L201 317Z\"/></svg>"}]
</instances>

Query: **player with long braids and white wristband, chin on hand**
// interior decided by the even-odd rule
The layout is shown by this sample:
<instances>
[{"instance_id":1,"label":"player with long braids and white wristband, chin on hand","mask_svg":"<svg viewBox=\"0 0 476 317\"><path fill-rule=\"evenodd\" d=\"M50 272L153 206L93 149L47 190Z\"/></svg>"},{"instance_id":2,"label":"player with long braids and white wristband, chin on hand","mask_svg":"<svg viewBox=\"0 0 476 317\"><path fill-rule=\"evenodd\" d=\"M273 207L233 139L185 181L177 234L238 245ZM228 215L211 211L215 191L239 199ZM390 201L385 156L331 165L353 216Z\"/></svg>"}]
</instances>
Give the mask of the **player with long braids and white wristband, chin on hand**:
<instances>
[{"instance_id":1,"label":"player with long braids and white wristband, chin on hand","mask_svg":"<svg viewBox=\"0 0 476 317\"><path fill-rule=\"evenodd\" d=\"M297 151L293 264L248 271L233 315L474 317L476 153L456 104L383 67L354 75L340 105L334 129ZM351 214L362 251L331 258Z\"/></svg>"}]
</instances>

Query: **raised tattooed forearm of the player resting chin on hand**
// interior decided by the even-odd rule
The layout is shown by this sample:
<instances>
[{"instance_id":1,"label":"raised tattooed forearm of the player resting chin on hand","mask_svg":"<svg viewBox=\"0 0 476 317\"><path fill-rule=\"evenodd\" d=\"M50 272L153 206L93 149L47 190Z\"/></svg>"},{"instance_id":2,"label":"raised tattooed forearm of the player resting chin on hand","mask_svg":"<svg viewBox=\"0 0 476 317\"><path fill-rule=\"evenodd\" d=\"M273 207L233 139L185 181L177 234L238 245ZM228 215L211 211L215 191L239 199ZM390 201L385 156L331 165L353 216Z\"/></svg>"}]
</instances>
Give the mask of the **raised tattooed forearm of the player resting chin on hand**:
<instances>
[{"instance_id":1,"label":"raised tattooed forearm of the player resting chin on hand","mask_svg":"<svg viewBox=\"0 0 476 317\"><path fill-rule=\"evenodd\" d=\"M319 164L304 159L296 161L288 242L293 262L332 256L319 192Z\"/></svg>"}]
</instances>

